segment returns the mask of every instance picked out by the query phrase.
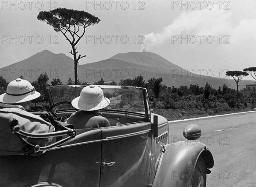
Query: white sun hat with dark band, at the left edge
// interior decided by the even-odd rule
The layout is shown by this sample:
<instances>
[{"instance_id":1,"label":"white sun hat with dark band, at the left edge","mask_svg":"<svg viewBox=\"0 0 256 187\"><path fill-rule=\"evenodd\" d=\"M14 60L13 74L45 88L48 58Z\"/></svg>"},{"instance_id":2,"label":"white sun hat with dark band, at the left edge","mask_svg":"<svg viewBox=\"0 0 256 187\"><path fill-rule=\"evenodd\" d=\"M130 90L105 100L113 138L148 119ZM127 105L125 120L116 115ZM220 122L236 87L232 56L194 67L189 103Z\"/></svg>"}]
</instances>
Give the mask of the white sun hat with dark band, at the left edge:
<instances>
[{"instance_id":1,"label":"white sun hat with dark band, at the left edge","mask_svg":"<svg viewBox=\"0 0 256 187\"><path fill-rule=\"evenodd\" d=\"M40 95L29 81L17 78L8 84L6 93L0 95L0 102L8 104L23 103L36 99Z\"/></svg>"}]
</instances>

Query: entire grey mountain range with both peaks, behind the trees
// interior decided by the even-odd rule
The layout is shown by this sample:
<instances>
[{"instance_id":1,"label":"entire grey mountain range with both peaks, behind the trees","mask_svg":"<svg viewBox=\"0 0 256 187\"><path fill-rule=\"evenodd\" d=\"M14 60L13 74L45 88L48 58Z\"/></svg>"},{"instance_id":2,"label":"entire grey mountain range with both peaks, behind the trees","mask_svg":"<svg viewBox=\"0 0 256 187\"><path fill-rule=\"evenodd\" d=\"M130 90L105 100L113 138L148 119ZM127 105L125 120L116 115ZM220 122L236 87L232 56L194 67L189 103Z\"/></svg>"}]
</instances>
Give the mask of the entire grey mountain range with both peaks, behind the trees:
<instances>
[{"instance_id":1,"label":"entire grey mountain range with both peaks, behind the trees","mask_svg":"<svg viewBox=\"0 0 256 187\"><path fill-rule=\"evenodd\" d=\"M47 50L3 67L0 71L7 82L19 78L20 75L28 81L35 81L44 72L47 72L49 82L54 78L60 78L65 84L69 77L74 79L73 59L62 53L54 54ZM119 53L106 60L78 66L78 78L86 82L95 82L103 78L105 81L119 83L121 79L133 79L138 75L142 75L146 82L149 78L163 77L163 84L166 86L179 87L190 84L204 86L208 82L214 88L225 83L236 89L236 83L232 79L195 75L151 52ZM239 82L239 88L245 88L246 84L254 84L254 82L242 80Z\"/></svg>"}]
</instances>

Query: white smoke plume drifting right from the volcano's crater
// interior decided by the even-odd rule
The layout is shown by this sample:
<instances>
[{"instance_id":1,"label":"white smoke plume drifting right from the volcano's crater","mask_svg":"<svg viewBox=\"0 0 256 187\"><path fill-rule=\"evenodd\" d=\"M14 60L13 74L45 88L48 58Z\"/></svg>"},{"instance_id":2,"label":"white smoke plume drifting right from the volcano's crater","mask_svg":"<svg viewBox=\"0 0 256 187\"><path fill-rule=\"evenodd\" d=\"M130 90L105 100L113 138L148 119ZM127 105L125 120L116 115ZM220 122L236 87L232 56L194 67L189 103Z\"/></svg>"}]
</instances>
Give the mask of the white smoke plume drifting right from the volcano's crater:
<instances>
[{"instance_id":1,"label":"white smoke plume drifting right from the volcano's crater","mask_svg":"<svg viewBox=\"0 0 256 187\"><path fill-rule=\"evenodd\" d=\"M255 23L255 19L242 19L238 24L233 23L232 12L227 10L202 9L183 12L161 32L145 35L142 51L160 46L166 41L170 42L172 35L230 35L232 41L244 38L255 42Z\"/></svg>"}]
</instances>

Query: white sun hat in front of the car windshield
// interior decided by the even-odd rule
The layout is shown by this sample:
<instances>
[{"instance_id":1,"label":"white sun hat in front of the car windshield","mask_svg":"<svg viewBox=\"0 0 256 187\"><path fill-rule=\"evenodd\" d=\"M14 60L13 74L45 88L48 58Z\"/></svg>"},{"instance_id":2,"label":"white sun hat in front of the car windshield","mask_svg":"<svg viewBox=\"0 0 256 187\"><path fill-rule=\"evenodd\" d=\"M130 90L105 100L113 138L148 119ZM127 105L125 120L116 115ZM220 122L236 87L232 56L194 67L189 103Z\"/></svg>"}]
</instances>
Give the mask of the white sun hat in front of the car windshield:
<instances>
[{"instance_id":1,"label":"white sun hat in front of the car windshield","mask_svg":"<svg viewBox=\"0 0 256 187\"><path fill-rule=\"evenodd\" d=\"M74 98L71 103L76 109L94 111L105 108L110 104L110 101L104 97L99 86L90 85L84 87L80 96Z\"/></svg>"}]
</instances>

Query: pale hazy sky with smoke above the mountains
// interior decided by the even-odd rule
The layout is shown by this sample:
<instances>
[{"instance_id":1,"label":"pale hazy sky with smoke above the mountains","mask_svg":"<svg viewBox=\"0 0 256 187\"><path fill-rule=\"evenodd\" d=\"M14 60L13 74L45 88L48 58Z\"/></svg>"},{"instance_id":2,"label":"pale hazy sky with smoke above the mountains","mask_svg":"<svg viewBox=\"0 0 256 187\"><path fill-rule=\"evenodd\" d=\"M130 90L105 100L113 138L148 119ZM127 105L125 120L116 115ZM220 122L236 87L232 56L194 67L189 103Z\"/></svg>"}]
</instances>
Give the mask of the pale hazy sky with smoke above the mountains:
<instances>
[{"instance_id":1,"label":"pale hazy sky with smoke above the mountains","mask_svg":"<svg viewBox=\"0 0 256 187\"><path fill-rule=\"evenodd\" d=\"M0 1L0 67L45 49L69 53L60 32L37 19L55 8L83 10L101 20L77 45L79 64L118 53L154 52L200 75L256 66L256 1ZM250 76L243 79L253 80Z\"/></svg>"}]
</instances>

